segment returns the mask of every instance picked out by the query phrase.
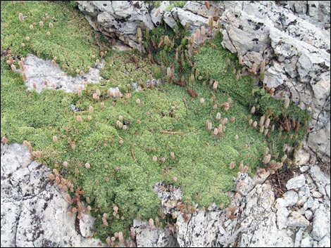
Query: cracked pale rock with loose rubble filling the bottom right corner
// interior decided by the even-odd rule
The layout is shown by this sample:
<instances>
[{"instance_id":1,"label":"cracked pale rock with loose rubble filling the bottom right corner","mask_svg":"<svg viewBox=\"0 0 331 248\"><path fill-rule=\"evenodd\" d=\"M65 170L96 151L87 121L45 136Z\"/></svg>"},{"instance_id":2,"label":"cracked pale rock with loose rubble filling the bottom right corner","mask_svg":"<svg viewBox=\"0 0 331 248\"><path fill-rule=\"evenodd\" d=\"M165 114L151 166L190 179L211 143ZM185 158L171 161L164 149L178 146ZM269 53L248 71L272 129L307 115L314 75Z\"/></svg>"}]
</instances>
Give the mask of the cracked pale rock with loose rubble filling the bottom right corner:
<instances>
[{"instance_id":1,"label":"cracked pale rock with loose rubble filling the bottom right corner","mask_svg":"<svg viewBox=\"0 0 331 248\"><path fill-rule=\"evenodd\" d=\"M313 165L287 181L288 190L276 199L267 176L241 174L229 208L214 204L189 214L179 211L180 190L159 188L164 214L176 219L180 247L330 246L330 178Z\"/></svg>"}]
</instances>

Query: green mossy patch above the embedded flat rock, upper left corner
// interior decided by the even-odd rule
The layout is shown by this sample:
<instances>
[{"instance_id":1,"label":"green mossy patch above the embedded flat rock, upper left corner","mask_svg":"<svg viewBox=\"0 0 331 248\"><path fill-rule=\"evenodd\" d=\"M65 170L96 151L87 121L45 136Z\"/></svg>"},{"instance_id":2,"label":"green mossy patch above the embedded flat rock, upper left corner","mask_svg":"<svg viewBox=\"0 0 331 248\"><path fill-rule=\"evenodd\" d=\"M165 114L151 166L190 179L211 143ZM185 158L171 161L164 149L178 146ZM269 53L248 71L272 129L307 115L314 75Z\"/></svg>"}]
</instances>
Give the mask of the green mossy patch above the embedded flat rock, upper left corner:
<instances>
[{"instance_id":1,"label":"green mossy patch above the embedded flat rock, upper left corner","mask_svg":"<svg viewBox=\"0 0 331 248\"><path fill-rule=\"evenodd\" d=\"M1 51L8 49L18 57L28 53L46 59L56 57L56 62L70 74L77 69L89 71L96 60L92 55L98 57L99 48L94 44L94 31L80 11L68 8L65 1L14 3L11 6L11 1L1 1Z\"/></svg>"}]
</instances>

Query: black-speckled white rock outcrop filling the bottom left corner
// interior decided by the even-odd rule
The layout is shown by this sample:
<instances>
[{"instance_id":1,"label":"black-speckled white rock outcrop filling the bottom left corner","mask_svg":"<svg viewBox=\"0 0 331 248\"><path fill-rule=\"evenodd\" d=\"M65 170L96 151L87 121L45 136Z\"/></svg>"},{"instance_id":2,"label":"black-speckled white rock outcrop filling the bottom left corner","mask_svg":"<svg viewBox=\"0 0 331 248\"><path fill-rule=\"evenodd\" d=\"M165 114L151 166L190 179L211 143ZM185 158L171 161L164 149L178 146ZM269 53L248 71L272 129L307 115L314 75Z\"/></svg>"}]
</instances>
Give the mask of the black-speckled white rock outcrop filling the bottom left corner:
<instances>
[{"instance_id":1,"label":"black-speckled white rock outcrop filling the bottom left corner","mask_svg":"<svg viewBox=\"0 0 331 248\"><path fill-rule=\"evenodd\" d=\"M1 143L1 247L102 246L85 238L93 229L87 220L75 230L76 216L67 214L70 204L49 183L49 172L24 145Z\"/></svg>"}]
</instances>

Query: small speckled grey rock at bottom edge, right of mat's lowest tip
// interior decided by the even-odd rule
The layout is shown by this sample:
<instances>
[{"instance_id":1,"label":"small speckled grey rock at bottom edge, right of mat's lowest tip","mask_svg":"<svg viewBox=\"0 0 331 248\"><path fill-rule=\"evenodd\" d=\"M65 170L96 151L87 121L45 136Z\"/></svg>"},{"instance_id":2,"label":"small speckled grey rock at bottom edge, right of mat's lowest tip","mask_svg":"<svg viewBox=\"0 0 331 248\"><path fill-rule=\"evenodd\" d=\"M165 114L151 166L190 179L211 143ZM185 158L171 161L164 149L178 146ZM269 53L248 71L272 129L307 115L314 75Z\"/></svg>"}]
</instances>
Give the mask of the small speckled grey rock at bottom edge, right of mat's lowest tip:
<instances>
[{"instance_id":1,"label":"small speckled grey rock at bottom edge, right of mat's lowest tip","mask_svg":"<svg viewBox=\"0 0 331 248\"><path fill-rule=\"evenodd\" d=\"M134 220L137 247L179 247L168 228L149 226L148 222Z\"/></svg>"}]
</instances>

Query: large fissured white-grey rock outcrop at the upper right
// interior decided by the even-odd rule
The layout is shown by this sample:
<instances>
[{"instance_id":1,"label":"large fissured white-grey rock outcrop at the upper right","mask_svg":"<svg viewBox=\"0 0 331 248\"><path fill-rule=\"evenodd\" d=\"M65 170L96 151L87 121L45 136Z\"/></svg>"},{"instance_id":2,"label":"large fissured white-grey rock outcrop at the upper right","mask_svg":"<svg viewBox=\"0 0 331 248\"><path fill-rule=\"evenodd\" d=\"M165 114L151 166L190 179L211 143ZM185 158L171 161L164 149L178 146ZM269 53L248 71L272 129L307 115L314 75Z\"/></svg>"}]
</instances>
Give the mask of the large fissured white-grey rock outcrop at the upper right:
<instances>
[{"instance_id":1,"label":"large fissured white-grey rock outcrop at the upper right","mask_svg":"<svg viewBox=\"0 0 331 248\"><path fill-rule=\"evenodd\" d=\"M299 9L304 1L295 2ZM308 148L330 162L330 32L273 1L224 1L221 8L223 46L243 56L249 68L266 60L263 84L275 88L276 98L289 97L313 114Z\"/></svg>"}]
</instances>

